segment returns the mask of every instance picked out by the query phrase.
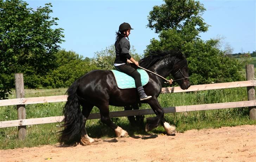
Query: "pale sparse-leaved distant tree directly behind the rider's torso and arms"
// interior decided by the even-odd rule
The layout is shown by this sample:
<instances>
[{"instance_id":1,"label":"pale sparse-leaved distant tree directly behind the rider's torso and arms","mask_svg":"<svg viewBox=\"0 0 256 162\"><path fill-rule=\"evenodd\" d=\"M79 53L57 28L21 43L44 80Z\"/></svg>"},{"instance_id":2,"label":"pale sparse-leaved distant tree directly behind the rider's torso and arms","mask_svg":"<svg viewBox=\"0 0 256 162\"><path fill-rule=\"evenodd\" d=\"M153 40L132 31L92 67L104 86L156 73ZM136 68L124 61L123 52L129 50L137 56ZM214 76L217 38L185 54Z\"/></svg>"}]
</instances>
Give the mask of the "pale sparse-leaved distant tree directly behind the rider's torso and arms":
<instances>
[{"instance_id":1,"label":"pale sparse-leaved distant tree directly behind the rider's torso and arms","mask_svg":"<svg viewBox=\"0 0 256 162\"><path fill-rule=\"evenodd\" d=\"M130 55L137 61L140 60L141 58L141 56L136 53L134 46L132 46L132 48L130 49ZM116 58L115 46L111 45L106 47L104 50L95 52L95 56L91 62L91 65L94 64L95 66L97 66L99 69L102 69L102 70L115 69L114 67L115 58Z\"/></svg>"}]
</instances>

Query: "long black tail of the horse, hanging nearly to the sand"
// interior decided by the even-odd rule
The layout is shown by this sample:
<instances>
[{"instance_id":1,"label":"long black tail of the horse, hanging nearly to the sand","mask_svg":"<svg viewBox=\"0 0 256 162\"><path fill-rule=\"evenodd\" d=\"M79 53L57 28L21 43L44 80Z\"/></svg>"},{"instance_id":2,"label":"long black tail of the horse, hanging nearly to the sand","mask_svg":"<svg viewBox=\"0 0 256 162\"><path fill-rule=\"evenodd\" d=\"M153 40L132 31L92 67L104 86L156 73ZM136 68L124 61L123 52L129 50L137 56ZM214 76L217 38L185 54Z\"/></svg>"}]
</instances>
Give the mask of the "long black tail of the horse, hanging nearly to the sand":
<instances>
[{"instance_id":1,"label":"long black tail of the horse, hanging nearly to the sand","mask_svg":"<svg viewBox=\"0 0 256 162\"><path fill-rule=\"evenodd\" d=\"M61 136L59 138L60 143L73 143L78 142L81 139L81 129L83 127L83 115L80 108L79 99L77 96L77 88L79 86L79 79L76 80L67 90L68 101L63 108L64 114L64 127L60 131Z\"/></svg>"}]
</instances>

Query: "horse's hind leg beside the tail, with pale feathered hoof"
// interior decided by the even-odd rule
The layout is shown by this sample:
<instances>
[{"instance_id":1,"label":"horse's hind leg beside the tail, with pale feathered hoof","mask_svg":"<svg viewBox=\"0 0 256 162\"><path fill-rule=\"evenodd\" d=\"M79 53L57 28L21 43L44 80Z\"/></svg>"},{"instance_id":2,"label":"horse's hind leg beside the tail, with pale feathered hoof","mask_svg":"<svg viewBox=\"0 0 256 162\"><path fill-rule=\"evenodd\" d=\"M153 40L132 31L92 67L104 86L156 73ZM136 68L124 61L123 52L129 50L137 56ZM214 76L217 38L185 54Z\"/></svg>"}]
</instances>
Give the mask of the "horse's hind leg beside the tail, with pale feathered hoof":
<instances>
[{"instance_id":1,"label":"horse's hind leg beside the tail, with pale feathered hoof","mask_svg":"<svg viewBox=\"0 0 256 162\"><path fill-rule=\"evenodd\" d=\"M85 123L86 123L86 121L88 119L88 116L89 116L89 114L90 114L90 112L91 112L91 110L94 106L89 104L89 103L81 103L81 105L83 107L83 109L82 109L83 127L81 129L80 143L82 145L90 145L90 144L94 143L95 140L88 136L87 131L86 131L86 127L85 127Z\"/></svg>"}]
</instances>

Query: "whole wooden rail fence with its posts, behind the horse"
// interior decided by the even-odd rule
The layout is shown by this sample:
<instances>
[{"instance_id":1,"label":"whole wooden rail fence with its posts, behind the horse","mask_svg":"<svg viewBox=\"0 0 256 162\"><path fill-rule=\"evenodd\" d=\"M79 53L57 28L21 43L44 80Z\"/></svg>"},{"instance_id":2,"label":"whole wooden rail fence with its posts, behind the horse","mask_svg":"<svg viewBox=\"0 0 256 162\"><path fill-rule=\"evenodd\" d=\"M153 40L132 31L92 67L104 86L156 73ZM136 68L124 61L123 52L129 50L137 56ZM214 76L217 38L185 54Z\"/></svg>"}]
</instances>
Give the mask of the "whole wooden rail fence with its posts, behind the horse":
<instances>
[{"instance_id":1,"label":"whole wooden rail fence with its posts, behind the horse","mask_svg":"<svg viewBox=\"0 0 256 162\"><path fill-rule=\"evenodd\" d=\"M256 100L255 100L256 80L254 80L254 65L246 66L246 76L247 76L247 81L196 85L196 86L191 86L187 90L182 90L180 87L168 87L168 88L162 88L161 93L165 94L165 93L177 93L177 92L192 92L192 91L199 91L199 90L247 87L248 101L168 107L168 108L164 108L164 111L165 113L174 113L174 112L189 112L189 111L198 111L198 110L249 107L250 118L253 120L256 120ZM36 104L36 103L64 102L67 100L66 95L24 98L23 97L24 86L23 86L22 74L15 74L15 85L16 85L17 99L0 100L0 106L17 105L18 120L1 121L0 128L18 126L19 139L23 140L25 139L27 125L55 123L55 122L63 121L64 116L26 119L25 105ZM110 117L122 117L122 116L134 116L134 115L149 115L149 114L154 114L152 109L110 112L109 115ZM88 119L100 119L100 114L99 113L90 114Z\"/></svg>"}]
</instances>

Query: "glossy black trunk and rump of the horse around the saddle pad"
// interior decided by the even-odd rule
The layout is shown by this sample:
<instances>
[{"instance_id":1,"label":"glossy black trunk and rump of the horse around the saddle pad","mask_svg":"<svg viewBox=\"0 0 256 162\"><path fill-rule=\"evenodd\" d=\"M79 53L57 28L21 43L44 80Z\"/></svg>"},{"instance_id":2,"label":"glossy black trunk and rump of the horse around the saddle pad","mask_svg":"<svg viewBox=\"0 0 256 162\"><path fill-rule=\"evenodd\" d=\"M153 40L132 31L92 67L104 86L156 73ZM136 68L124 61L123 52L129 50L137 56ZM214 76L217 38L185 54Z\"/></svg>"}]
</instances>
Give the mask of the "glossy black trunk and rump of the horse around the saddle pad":
<instances>
[{"instance_id":1,"label":"glossy black trunk and rump of the horse around the saddle pad","mask_svg":"<svg viewBox=\"0 0 256 162\"><path fill-rule=\"evenodd\" d=\"M137 102L136 88L119 89L110 70L92 70L79 79L78 95L95 106L126 106Z\"/></svg>"}]
</instances>

